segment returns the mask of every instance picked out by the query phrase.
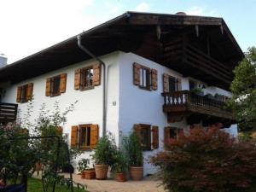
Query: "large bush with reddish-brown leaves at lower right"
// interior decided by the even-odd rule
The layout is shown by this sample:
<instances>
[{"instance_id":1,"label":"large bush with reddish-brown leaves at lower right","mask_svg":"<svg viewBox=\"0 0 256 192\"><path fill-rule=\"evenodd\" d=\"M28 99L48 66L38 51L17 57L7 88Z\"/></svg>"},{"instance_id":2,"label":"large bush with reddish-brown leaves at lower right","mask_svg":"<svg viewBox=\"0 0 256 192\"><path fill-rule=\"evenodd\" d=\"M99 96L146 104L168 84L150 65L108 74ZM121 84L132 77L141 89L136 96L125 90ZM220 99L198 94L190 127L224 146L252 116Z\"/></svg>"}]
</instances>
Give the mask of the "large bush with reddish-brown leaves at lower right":
<instances>
[{"instance_id":1,"label":"large bush with reddish-brown leaves at lower right","mask_svg":"<svg viewBox=\"0 0 256 192\"><path fill-rule=\"evenodd\" d=\"M197 128L151 158L172 192L255 192L256 147L224 131Z\"/></svg>"}]
</instances>

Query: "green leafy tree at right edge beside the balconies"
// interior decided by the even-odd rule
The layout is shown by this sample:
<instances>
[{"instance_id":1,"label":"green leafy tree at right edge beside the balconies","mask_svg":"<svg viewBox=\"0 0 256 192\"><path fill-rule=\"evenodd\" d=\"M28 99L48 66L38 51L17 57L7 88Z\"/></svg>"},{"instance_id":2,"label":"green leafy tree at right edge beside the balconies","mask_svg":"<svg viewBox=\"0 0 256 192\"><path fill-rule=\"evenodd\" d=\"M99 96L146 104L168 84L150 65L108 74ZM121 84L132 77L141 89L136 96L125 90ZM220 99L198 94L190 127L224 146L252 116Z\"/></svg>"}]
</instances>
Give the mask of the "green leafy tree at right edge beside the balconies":
<instances>
[{"instance_id":1,"label":"green leafy tree at right edge beside the balconies","mask_svg":"<svg viewBox=\"0 0 256 192\"><path fill-rule=\"evenodd\" d=\"M249 48L234 70L228 102L241 131L256 130L256 48Z\"/></svg>"}]
</instances>

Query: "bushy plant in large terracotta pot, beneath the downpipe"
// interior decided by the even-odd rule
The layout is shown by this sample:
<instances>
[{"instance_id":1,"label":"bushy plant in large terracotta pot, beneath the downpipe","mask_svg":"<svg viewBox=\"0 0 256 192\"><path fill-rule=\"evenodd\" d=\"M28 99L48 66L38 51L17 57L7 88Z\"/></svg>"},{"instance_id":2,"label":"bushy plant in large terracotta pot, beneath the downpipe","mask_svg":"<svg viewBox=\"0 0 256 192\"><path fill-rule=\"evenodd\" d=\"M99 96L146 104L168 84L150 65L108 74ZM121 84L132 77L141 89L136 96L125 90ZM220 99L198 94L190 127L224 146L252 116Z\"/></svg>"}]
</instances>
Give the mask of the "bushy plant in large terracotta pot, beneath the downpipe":
<instances>
[{"instance_id":1,"label":"bushy plant in large terracotta pot, beneath the downpipe","mask_svg":"<svg viewBox=\"0 0 256 192\"><path fill-rule=\"evenodd\" d=\"M92 159L95 160L96 179L106 179L108 166L113 166L113 154L116 151L114 140L108 135L101 137L96 144Z\"/></svg>"}]
</instances>

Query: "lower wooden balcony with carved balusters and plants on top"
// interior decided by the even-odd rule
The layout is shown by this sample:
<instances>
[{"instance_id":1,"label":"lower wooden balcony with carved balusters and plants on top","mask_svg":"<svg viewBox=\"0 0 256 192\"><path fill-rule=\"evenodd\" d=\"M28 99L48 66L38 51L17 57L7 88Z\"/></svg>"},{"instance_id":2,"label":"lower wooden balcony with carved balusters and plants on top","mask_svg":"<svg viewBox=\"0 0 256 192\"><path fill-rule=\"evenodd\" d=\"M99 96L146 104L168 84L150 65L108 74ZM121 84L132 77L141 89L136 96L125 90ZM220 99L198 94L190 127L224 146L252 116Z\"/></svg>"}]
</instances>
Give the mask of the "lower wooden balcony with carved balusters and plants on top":
<instances>
[{"instance_id":1,"label":"lower wooden balcony with carved balusters and plants on top","mask_svg":"<svg viewBox=\"0 0 256 192\"><path fill-rule=\"evenodd\" d=\"M162 96L165 102L163 111L168 113L168 119L188 117L192 114L207 118L233 119L232 113L225 108L224 102L195 95L189 90L162 93Z\"/></svg>"}]
</instances>

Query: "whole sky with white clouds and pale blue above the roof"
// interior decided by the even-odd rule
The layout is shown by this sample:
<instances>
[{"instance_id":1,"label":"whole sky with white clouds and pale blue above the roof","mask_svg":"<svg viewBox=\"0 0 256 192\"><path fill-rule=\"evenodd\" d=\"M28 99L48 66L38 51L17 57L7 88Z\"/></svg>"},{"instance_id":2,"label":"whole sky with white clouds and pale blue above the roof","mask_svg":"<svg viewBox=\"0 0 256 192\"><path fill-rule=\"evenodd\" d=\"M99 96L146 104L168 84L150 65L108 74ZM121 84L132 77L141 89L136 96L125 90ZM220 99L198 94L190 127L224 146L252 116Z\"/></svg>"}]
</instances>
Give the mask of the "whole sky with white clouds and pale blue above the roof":
<instances>
[{"instance_id":1,"label":"whole sky with white clouds and pale blue above the roof","mask_svg":"<svg viewBox=\"0 0 256 192\"><path fill-rule=\"evenodd\" d=\"M0 0L0 54L18 61L126 11L223 17L243 51L256 46L256 0Z\"/></svg>"}]
</instances>

